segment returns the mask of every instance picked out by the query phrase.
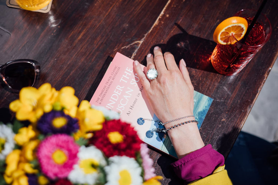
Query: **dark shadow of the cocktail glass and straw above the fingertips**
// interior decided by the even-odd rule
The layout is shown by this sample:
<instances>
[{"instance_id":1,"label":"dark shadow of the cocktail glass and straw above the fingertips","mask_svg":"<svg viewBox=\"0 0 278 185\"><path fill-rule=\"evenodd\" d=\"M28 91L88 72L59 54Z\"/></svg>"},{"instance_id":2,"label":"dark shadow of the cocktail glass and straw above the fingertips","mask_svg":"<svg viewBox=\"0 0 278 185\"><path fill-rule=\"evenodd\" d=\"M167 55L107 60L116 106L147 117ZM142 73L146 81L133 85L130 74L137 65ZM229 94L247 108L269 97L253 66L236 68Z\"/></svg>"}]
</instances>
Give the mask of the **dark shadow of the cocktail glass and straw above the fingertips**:
<instances>
[{"instance_id":1,"label":"dark shadow of the cocktail glass and straw above the fingertips","mask_svg":"<svg viewBox=\"0 0 278 185\"><path fill-rule=\"evenodd\" d=\"M175 26L177 26L182 33L172 36L166 44L154 45L150 49L150 53L153 54L153 48L159 46L163 53L170 52L174 55L177 65L181 59L184 59L187 67L217 73L210 62L210 56L216 43L188 34L177 23L175 23ZM141 64L147 64L146 58Z\"/></svg>"}]
</instances>

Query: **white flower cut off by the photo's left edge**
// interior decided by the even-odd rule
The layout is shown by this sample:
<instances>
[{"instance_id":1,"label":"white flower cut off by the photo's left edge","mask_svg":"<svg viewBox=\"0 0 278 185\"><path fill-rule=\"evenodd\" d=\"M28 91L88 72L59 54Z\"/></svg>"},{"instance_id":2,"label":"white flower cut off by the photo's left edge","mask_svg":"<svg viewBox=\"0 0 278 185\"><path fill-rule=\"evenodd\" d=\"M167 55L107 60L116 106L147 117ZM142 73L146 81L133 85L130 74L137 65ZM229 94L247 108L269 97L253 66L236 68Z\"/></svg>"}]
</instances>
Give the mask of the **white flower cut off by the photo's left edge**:
<instances>
[{"instance_id":1,"label":"white flower cut off by the photo's left edge","mask_svg":"<svg viewBox=\"0 0 278 185\"><path fill-rule=\"evenodd\" d=\"M4 160L13 151L14 145L13 130L7 125L0 124L0 160Z\"/></svg>"}]
</instances>

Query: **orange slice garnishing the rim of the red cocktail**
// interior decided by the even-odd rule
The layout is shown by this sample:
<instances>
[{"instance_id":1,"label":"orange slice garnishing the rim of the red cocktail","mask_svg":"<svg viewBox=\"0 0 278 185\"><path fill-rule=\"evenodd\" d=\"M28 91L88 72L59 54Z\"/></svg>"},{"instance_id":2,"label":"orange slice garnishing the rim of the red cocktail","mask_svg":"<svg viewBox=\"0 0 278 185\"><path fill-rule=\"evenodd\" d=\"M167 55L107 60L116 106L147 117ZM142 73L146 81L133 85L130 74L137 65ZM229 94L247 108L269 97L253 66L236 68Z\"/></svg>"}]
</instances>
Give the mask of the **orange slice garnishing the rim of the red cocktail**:
<instances>
[{"instance_id":1,"label":"orange slice garnishing the rim of the red cocktail","mask_svg":"<svg viewBox=\"0 0 278 185\"><path fill-rule=\"evenodd\" d=\"M234 44L242 39L248 23L243 17L230 17L222 21L213 33L213 40L219 44Z\"/></svg>"}]
</instances>

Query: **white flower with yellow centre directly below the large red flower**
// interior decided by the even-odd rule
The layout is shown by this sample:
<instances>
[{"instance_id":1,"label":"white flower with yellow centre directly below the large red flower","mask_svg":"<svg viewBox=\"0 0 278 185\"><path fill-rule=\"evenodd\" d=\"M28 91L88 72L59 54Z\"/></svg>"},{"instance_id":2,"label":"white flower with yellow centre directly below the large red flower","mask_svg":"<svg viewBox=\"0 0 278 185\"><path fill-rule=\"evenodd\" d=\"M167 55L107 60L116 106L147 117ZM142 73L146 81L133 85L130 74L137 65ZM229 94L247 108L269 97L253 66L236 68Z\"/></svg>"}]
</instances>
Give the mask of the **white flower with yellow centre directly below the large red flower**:
<instances>
[{"instance_id":1,"label":"white flower with yellow centre directly below the large red flower","mask_svg":"<svg viewBox=\"0 0 278 185\"><path fill-rule=\"evenodd\" d=\"M110 165L105 166L107 183L105 185L142 185L140 176L142 168L133 158L127 156L113 156L109 159Z\"/></svg>"}]
</instances>

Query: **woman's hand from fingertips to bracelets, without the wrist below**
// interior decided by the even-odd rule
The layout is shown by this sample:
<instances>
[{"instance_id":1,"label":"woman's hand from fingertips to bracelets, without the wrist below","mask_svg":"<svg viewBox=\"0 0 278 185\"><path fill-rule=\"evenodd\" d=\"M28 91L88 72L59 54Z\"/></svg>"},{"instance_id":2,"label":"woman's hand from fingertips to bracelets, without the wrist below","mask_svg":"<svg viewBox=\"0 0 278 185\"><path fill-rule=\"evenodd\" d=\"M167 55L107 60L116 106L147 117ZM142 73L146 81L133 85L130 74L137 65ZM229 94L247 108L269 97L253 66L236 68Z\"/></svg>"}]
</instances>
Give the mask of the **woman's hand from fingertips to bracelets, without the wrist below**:
<instances>
[{"instance_id":1,"label":"woman's hand from fingertips to bracelets, without the wrist below","mask_svg":"<svg viewBox=\"0 0 278 185\"><path fill-rule=\"evenodd\" d=\"M184 60L180 60L180 69L178 69L171 53L166 52L163 57L159 47L155 47L153 53L154 57L152 54L147 55L147 70L151 68L157 69L157 78L149 80L136 61L134 62L134 68L144 86L148 101L155 115L163 123L183 116L193 115L194 88ZM189 119L192 119L192 117Z\"/></svg>"}]
</instances>

